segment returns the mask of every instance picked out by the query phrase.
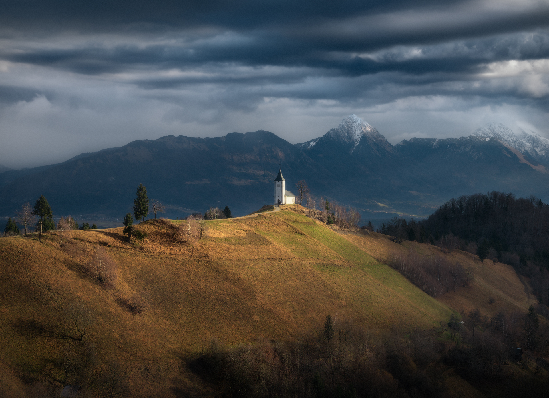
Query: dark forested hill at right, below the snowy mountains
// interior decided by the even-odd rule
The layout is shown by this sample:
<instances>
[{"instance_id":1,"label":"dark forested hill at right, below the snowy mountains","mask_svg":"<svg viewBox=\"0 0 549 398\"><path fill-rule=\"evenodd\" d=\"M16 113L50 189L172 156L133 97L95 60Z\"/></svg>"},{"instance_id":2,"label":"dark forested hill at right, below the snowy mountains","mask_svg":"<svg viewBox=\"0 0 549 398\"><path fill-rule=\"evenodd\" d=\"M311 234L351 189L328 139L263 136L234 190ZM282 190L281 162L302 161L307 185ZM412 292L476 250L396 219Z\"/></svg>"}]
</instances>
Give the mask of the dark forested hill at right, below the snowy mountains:
<instances>
[{"instance_id":1,"label":"dark forested hill at right, below the snowy mountains","mask_svg":"<svg viewBox=\"0 0 549 398\"><path fill-rule=\"evenodd\" d=\"M531 278L537 299L549 306L549 205L540 198L497 191L464 195L446 202L416 229L420 238L442 248L512 265Z\"/></svg>"}]
</instances>

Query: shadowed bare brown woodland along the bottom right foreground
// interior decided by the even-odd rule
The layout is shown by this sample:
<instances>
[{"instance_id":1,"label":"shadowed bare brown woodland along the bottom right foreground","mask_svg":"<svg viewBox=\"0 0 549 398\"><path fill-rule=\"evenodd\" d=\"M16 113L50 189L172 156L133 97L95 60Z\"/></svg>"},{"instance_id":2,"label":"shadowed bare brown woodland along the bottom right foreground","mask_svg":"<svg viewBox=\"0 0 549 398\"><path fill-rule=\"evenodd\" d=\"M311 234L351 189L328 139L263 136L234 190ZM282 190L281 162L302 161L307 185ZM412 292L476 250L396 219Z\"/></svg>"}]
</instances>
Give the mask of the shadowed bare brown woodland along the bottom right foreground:
<instances>
[{"instance_id":1,"label":"shadowed bare brown woodland along the bottom right foreground","mask_svg":"<svg viewBox=\"0 0 549 398\"><path fill-rule=\"evenodd\" d=\"M499 315L488 319L478 310L463 313L463 323L452 314L440 327L421 330L402 320L382 333L327 315L296 342L224 346L214 339L192 365L223 396L435 398L450 393L440 371L448 368L476 385L505 383L503 397L541 396L549 382L541 361L529 349L520 358L509 350L537 315L501 316L512 330L507 338ZM524 369L519 378L516 365Z\"/></svg>"}]
</instances>

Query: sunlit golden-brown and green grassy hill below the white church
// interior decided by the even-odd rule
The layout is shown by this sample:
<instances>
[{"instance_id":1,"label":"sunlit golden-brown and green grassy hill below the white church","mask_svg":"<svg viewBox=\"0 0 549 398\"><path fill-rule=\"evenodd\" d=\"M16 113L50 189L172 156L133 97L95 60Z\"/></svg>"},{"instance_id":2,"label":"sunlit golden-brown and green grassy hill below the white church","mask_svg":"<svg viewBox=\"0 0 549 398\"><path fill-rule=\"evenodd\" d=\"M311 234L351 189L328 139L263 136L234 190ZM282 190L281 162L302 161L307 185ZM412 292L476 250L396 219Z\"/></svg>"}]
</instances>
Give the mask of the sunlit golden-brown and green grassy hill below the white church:
<instances>
[{"instance_id":1,"label":"sunlit golden-brown and green grassy hill below the white church","mask_svg":"<svg viewBox=\"0 0 549 398\"><path fill-rule=\"evenodd\" d=\"M60 325L75 306L93 312L85 339L101 363L122 363L139 396L175 397L209 391L187 359L214 338L297 340L327 314L379 333L399 322L428 329L452 311L525 311L531 300L509 266L430 245L397 245L374 232L340 231L302 213L286 207L207 221L208 233L188 243L173 238L186 222L175 220L139 224L147 238L135 245L121 228L69 231L63 246L55 232L42 243L36 234L0 239L0 395L32 396L24 382L46 380L44 366L65 355L67 340L29 337L25 325L27 332L31 321ZM110 285L86 272L97 247L117 265ZM383 264L389 251L410 247L474 267L475 283L430 297ZM135 294L149 298L140 314L128 310Z\"/></svg>"}]
</instances>

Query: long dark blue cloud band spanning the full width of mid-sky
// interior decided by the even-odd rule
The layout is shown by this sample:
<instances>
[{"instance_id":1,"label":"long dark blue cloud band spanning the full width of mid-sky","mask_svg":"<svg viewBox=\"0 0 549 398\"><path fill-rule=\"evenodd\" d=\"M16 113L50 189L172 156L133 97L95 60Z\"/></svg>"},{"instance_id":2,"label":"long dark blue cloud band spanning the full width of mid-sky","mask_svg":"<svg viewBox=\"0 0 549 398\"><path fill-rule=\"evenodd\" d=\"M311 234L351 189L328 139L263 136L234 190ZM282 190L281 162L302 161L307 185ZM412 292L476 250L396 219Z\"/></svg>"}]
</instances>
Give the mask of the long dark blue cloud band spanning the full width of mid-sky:
<instances>
[{"instance_id":1,"label":"long dark blue cloud band spanning the full width of mid-sky","mask_svg":"<svg viewBox=\"0 0 549 398\"><path fill-rule=\"evenodd\" d=\"M235 40L236 41L236 40ZM245 42L243 44L242 42ZM452 44L422 46L421 56L404 59L404 50L393 49L379 54L376 59L361 58L357 55L338 54L327 56L317 49L284 47L283 43L241 40L237 43L191 43L189 46L159 46L151 44L143 48L137 46L117 46L115 48L75 48L75 49L27 49L10 54L0 52L5 60L52 66L77 73L97 75L116 73L127 69L170 69L203 66L205 70L214 67L222 69L226 62L243 65L278 65L288 67L305 66L311 68L310 75L360 76L372 73L395 71L414 75L444 72L480 73L486 62L508 59L544 59L549 56L549 34L547 32L517 33L512 36L498 36L486 39L468 40ZM303 75L302 72L298 75ZM461 76L462 78L463 76ZM288 81L288 74L280 76L232 77L215 76L200 78L174 78L173 84L201 83L205 81L249 83L267 81ZM292 79L299 78L299 76ZM259 80L258 80L259 79ZM155 86L154 82L158 82ZM165 87L169 79L153 79L147 82L150 87Z\"/></svg>"}]
</instances>

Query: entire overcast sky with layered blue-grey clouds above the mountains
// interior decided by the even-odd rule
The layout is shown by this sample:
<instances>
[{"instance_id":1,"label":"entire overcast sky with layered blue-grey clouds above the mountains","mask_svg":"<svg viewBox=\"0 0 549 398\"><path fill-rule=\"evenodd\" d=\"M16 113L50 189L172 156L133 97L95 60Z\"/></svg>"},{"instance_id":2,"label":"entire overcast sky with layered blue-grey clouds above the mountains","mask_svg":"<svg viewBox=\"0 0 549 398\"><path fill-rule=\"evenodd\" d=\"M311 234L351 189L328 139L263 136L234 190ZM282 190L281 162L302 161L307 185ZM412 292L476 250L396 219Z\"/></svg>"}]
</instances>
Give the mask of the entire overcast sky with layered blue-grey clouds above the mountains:
<instances>
[{"instance_id":1,"label":"entire overcast sky with layered blue-grey clouds above the mountains","mask_svg":"<svg viewBox=\"0 0 549 398\"><path fill-rule=\"evenodd\" d=\"M549 0L441 3L4 0L0 163L168 134L295 144L351 113L393 144L549 137Z\"/></svg>"}]
</instances>

